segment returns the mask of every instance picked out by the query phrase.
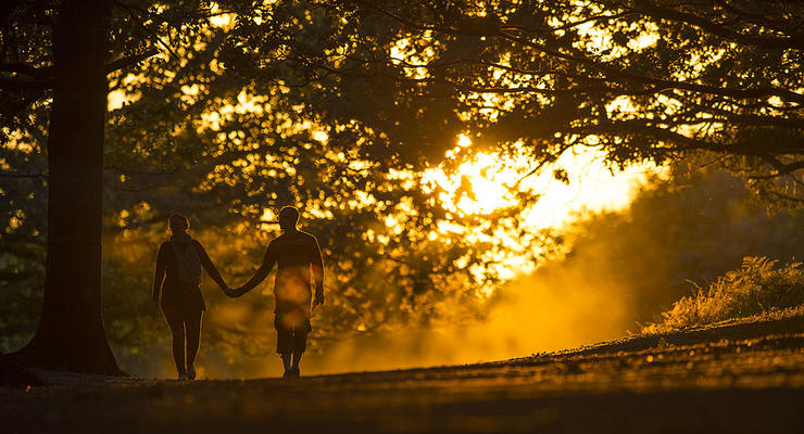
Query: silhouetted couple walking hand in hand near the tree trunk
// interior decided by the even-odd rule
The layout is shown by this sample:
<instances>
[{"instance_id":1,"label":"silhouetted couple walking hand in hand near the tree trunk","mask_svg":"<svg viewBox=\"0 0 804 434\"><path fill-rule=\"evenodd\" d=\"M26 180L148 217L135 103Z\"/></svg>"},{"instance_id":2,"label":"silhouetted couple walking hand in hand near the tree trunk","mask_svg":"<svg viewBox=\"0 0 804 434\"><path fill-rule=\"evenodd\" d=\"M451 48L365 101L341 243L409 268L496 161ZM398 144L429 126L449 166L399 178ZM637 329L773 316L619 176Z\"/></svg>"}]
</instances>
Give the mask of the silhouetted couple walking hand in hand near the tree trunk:
<instances>
[{"instance_id":1,"label":"silhouetted couple walking hand in hand near the tree trunk","mask_svg":"<svg viewBox=\"0 0 804 434\"><path fill-rule=\"evenodd\" d=\"M201 294L201 269L206 270L226 295L239 297L265 280L274 264L277 265L274 286L276 352L281 356L285 376L299 376L299 361L312 330L311 302L313 306L324 303L324 264L315 237L297 229L298 221L297 208L281 208L282 234L268 244L254 277L233 290L224 282L201 243L187 233L190 227L187 217L174 214L168 218L172 234L156 256L152 309L158 310L162 290L162 312L173 334L173 358L179 380L196 379L193 363L200 344L201 317L206 309ZM312 299L311 283L315 286L315 299Z\"/></svg>"}]
</instances>

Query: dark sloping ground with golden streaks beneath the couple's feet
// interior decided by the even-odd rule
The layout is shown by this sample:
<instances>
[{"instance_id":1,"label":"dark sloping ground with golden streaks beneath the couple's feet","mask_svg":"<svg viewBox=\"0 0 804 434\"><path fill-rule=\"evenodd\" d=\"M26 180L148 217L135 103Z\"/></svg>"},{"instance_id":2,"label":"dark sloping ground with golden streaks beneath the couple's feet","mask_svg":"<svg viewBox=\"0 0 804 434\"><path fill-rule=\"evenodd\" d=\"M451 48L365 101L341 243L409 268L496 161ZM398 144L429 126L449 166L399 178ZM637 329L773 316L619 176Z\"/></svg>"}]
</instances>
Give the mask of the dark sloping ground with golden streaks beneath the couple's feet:
<instances>
[{"instance_id":1,"label":"dark sloping ground with golden streaks beneath the couple's feet","mask_svg":"<svg viewBox=\"0 0 804 434\"><path fill-rule=\"evenodd\" d=\"M42 374L0 432L804 432L804 318L507 361L177 383Z\"/></svg>"}]
</instances>

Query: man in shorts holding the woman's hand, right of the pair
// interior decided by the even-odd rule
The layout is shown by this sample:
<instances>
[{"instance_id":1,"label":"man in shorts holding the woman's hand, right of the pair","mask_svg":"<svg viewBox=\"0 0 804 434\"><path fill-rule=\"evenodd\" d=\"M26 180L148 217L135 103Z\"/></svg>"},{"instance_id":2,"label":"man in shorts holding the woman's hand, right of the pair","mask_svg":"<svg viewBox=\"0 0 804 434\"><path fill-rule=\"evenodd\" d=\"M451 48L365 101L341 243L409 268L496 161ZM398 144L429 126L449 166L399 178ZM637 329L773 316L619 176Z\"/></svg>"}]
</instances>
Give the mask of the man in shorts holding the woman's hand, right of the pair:
<instances>
[{"instance_id":1,"label":"man in shorts holding the woman's hand, right of the pair","mask_svg":"<svg viewBox=\"0 0 804 434\"><path fill-rule=\"evenodd\" d=\"M281 356L285 376L299 376L299 361L306 349L311 311L311 269L315 285L313 307L324 303L324 263L318 241L310 233L297 229L299 210L285 206L279 210L279 228L282 234L274 239L265 251L265 257L254 277L244 285L230 290L231 297L259 285L277 265L274 284L274 327L277 332L276 352Z\"/></svg>"}]
</instances>

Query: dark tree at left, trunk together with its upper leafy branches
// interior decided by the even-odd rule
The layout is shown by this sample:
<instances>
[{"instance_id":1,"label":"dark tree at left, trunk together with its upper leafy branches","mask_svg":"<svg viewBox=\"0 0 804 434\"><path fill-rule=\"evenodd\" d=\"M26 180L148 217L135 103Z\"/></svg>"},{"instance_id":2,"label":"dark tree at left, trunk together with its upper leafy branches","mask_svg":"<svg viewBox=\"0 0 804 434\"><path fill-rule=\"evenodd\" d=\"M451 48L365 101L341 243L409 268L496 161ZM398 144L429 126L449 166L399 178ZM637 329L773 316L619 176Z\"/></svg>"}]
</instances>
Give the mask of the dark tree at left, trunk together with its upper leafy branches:
<instances>
[{"instance_id":1,"label":"dark tree at left, trunk together with its upper leafy branches","mask_svg":"<svg viewBox=\"0 0 804 434\"><path fill-rule=\"evenodd\" d=\"M162 17L135 16L133 9L148 12L131 4L118 7L127 14L115 14L114 26L108 0L32 1L5 4L0 10L3 142L18 150L26 142L25 133L36 130L40 127L36 123L42 120L34 118L29 108L49 108L47 175L3 174L4 178L41 177L48 182L42 315L33 340L15 354L29 365L120 372L101 316L106 74L154 53L148 41L159 36L149 25L159 28L181 21L192 25L199 16L209 16L209 10L199 4L189 7L198 11L194 15ZM114 60L109 59L112 41L120 49ZM37 234L33 238L39 239Z\"/></svg>"}]
</instances>

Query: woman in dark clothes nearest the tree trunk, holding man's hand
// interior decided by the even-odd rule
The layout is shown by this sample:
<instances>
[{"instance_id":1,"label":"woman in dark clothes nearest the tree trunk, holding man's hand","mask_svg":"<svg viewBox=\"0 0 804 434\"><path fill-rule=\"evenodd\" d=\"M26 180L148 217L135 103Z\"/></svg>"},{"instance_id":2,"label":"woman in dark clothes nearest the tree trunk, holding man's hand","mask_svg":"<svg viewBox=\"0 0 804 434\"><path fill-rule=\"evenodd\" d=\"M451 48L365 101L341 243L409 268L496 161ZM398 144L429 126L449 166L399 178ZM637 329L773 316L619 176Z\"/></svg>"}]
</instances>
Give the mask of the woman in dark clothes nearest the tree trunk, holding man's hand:
<instances>
[{"instance_id":1,"label":"woman in dark clothes nearest the tree trunk, holding man's hand","mask_svg":"<svg viewBox=\"0 0 804 434\"><path fill-rule=\"evenodd\" d=\"M173 358L178 379L194 380L193 362L200 344L201 317L206 309L200 286L201 267L224 293L227 293L228 286L201 243L187 234L187 229L190 228L187 217L174 214L167 219L167 225L172 235L162 243L156 255L151 309L153 312L159 310L161 289L162 312L173 334Z\"/></svg>"}]
</instances>

